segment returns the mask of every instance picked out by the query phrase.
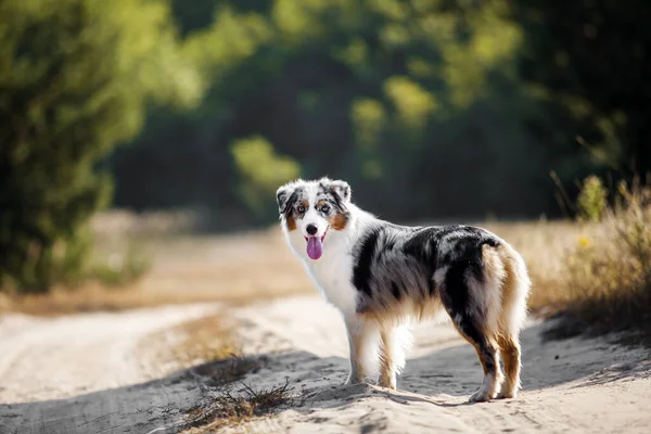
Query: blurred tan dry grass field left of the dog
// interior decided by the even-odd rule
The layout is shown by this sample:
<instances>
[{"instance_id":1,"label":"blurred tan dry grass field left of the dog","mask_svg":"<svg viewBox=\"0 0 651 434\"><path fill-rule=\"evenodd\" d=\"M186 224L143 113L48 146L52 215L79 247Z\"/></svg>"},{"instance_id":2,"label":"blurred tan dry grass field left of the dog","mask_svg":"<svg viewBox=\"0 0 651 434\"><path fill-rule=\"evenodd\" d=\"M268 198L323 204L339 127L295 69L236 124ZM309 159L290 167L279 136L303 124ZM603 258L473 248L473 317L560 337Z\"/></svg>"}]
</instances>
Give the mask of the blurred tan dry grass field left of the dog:
<instances>
[{"instance_id":1,"label":"blurred tan dry grass field left of the dog","mask_svg":"<svg viewBox=\"0 0 651 434\"><path fill-rule=\"evenodd\" d=\"M215 301L239 305L311 291L277 227L202 237L157 227L145 230L140 220L129 224L124 214L118 217L118 222L99 217L103 226L94 225L95 255L110 258L125 252L127 244L137 243L151 260L144 277L123 288L94 283L76 290L60 288L44 295L0 292L0 311L60 315Z\"/></svg>"}]
</instances>

